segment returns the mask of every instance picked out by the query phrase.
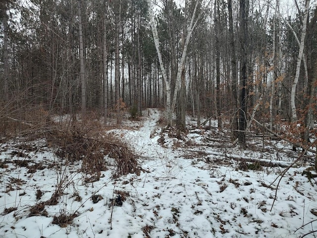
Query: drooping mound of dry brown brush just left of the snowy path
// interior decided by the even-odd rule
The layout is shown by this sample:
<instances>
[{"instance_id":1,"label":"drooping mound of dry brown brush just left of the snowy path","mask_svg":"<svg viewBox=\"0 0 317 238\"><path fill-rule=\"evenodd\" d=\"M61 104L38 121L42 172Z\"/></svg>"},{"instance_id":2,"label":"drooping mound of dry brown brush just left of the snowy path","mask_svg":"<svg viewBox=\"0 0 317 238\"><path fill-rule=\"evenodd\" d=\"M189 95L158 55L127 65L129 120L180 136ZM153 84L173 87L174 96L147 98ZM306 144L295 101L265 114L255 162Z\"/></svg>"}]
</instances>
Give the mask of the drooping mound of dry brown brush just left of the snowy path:
<instances>
[{"instance_id":1,"label":"drooping mound of dry brown brush just left of the snowy path","mask_svg":"<svg viewBox=\"0 0 317 238\"><path fill-rule=\"evenodd\" d=\"M59 148L56 155L60 158L82 160L82 171L90 175L87 182L98 180L100 172L106 170L106 155L117 162L117 175L139 174L139 156L122 139L102 131L97 121L76 121L53 128L47 139L50 145Z\"/></svg>"}]
</instances>

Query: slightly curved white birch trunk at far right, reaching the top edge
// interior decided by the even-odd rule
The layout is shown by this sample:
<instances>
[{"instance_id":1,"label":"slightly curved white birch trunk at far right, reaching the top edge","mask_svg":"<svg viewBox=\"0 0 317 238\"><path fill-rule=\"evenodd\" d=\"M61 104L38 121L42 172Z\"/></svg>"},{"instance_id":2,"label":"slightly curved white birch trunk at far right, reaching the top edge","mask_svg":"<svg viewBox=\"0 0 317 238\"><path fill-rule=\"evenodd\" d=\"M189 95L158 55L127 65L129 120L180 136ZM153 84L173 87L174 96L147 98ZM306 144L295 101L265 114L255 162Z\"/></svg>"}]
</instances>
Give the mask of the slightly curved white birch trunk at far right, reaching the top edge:
<instances>
[{"instance_id":1,"label":"slightly curved white birch trunk at far right, reaching the top edge","mask_svg":"<svg viewBox=\"0 0 317 238\"><path fill-rule=\"evenodd\" d=\"M310 0L307 0L306 2L306 9L305 9L305 17L303 21L303 30L302 30L302 36L301 36L301 42L300 42L300 48L297 58L297 65L296 65L296 73L295 78L292 84L292 90L291 90L291 108L292 108L292 121L297 121L297 114L296 114L296 105L295 105L295 93L296 93L296 86L299 80L299 73L301 69L301 62L304 52L304 46L305 46L305 36L306 36L306 27L307 27L307 18L309 13L309 3Z\"/></svg>"}]
</instances>

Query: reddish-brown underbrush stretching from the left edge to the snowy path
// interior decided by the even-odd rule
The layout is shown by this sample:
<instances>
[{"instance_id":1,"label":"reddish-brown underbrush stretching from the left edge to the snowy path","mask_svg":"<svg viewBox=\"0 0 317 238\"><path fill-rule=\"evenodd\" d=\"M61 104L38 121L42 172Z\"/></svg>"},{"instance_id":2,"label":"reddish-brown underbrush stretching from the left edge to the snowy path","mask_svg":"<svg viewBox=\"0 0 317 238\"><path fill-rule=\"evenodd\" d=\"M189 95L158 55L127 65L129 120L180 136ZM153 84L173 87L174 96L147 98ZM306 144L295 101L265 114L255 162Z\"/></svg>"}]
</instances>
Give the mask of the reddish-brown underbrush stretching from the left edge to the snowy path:
<instances>
[{"instance_id":1,"label":"reddish-brown underbrush stretching from the left edge to the snowy path","mask_svg":"<svg viewBox=\"0 0 317 238\"><path fill-rule=\"evenodd\" d=\"M137 162L139 156L121 138L107 133L100 121L79 121L73 116L55 122L51 113L42 107L15 112L9 106L0 107L2 143L22 137L23 140L45 137L48 146L55 150L58 158L67 163L82 161L82 172L91 175L94 180L98 180L100 172L106 170L106 156L116 161L116 176L140 173Z\"/></svg>"}]
</instances>

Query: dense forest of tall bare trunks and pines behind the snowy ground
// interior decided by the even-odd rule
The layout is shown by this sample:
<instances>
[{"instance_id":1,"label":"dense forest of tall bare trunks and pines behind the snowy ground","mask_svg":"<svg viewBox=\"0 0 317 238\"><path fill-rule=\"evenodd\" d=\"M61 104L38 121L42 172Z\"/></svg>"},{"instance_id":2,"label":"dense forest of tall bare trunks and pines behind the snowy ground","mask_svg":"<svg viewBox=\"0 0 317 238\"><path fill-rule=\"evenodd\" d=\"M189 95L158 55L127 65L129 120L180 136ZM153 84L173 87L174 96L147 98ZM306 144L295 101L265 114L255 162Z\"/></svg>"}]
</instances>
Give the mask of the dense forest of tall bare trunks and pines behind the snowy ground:
<instances>
[{"instance_id":1,"label":"dense forest of tall bare trunks and pines behind the snowy ground","mask_svg":"<svg viewBox=\"0 0 317 238\"><path fill-rule=\"evenodd\" d=\"M164 108L166 124L186 128L186 113L198 125L214 118L242 144L252 121L272 133L288 123L294 143L308 143L317 6L283 4L1 0L0 119L70 114L107 123L122 110L137 117Z\"/></svg>"}]
</instances>

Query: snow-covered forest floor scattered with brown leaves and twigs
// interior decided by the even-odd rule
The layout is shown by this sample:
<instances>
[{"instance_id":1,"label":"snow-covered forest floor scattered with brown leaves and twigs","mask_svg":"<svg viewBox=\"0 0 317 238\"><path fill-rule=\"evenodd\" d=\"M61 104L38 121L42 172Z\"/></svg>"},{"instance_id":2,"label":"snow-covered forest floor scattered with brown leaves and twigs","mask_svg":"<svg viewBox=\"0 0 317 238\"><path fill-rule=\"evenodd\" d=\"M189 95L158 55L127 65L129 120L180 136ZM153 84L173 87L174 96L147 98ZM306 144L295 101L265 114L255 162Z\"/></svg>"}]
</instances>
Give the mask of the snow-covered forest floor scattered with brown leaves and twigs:
<instances>
[{"instance_id":1,"label":"snow-covered forest floor scattered with brown leaves and twigs","mask_svg":"<svg viewBox=\"0 0 317 238\"><path fill-rule=\"evenodd\" d=\"M109 153L91 179L83 160L61 159L47 139L1 143L0 237L298 238L317 230L317 183L302 175L312 159L278 184L298 158L288 142L250 138L243 149L216 122L195 128L188 117L188 131L177 132L161 128L159 110L144 114L103 132L138 155L135 173L119 175Z\"/></svg>"}]
</instances>

